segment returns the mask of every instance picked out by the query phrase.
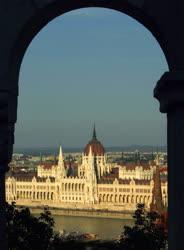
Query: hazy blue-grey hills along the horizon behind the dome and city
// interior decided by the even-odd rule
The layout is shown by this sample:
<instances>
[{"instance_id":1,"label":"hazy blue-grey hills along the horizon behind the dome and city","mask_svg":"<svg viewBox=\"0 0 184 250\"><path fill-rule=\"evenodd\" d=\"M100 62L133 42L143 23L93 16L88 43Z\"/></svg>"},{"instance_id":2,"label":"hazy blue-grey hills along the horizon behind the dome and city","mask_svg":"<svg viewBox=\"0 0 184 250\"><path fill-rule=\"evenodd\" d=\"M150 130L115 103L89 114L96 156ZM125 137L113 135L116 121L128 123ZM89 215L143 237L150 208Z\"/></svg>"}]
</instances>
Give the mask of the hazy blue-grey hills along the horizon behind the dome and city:
<instances>
[{"instance_id":1,"label":"hazy blue-grey hills along the horizon behind the dome and city","mask_svg":"<svg viewBox=\"0 0 184 250\"><path fill-rule=\"evenodd\" d=\"M131 146L118 146L118 147L106 147L106 152L133 152L138 150L140 152L152 152L152 151L159 151L159 152L166 152L166 146L150 146L150 145L131 145ZM83 148L63 148L65 153L74 153L74 152L82 152ZM24 153L24 154L31 154L31 155L39 155L40 153L44 155L50 154L57 154L58 148L56 147L35 147L35 148L15 148L14 153Z\"/></svg>"}]
</instances>

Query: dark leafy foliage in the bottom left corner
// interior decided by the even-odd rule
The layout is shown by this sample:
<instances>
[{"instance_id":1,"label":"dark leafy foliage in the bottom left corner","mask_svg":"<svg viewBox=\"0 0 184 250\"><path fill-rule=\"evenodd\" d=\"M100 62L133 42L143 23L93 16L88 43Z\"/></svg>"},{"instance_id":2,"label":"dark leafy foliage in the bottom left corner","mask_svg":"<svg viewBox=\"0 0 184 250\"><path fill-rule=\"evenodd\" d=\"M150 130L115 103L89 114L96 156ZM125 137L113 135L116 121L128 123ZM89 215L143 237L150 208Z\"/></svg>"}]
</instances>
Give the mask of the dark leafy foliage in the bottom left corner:
<instances>
[{"instance_id":1,"label":"dark leafy foliage in the bottom left corner","mask_svg":"<svg viewBox=\"0 0 184 250\"><path fill-rule=\"evenodd\" d=\"M29 208L17 209L15 204L7 204L6 214L9 249L49 249L54 220L47 209L37 218Z\"/></svg>"}]
</instances>

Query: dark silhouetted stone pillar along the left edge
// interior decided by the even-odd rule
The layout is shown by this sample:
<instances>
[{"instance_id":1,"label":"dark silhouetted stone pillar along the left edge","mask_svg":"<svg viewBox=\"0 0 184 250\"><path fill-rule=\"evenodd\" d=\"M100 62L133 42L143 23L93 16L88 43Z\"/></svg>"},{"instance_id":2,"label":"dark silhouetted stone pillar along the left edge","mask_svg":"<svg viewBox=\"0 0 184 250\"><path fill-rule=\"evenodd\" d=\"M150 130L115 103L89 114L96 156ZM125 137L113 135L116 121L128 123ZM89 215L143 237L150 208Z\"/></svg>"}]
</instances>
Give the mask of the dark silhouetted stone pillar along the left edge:
<instances>
[{"instance_id":1,"label":"dark silhouetted stone pillar along the left edge","mask_svg":"<svg viewBox=\"0 0 184 250\"><path fill-rule=\"evenodd\" d=\"M7 249L5 213L5 173L12 158L17 95L0 90L0 248Z\"/></svg>"}]
</instances>

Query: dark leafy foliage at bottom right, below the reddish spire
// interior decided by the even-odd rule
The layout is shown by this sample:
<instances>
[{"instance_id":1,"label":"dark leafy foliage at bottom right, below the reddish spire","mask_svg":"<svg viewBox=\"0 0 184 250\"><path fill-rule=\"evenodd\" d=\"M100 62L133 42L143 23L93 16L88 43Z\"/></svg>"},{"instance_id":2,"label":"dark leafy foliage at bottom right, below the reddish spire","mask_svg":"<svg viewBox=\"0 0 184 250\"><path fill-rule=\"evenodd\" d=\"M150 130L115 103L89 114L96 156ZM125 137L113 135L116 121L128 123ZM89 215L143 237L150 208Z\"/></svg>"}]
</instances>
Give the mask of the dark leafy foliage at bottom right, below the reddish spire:
<instances>
[{"instance_id":1,"label":"dark leafy foliage at bottom right, below the reddish spire","mask_svg":"<svg viewBox=\"0 0 184 250\"><path fill-rule=\"evenodd\" d=\"M120 245L126 250L161 250L166 249L167 234L163 225L156 223L160 215L146 212L144 204L138 204L133 218L133 227L125 226Z\"/></svg>"}]
</instances>

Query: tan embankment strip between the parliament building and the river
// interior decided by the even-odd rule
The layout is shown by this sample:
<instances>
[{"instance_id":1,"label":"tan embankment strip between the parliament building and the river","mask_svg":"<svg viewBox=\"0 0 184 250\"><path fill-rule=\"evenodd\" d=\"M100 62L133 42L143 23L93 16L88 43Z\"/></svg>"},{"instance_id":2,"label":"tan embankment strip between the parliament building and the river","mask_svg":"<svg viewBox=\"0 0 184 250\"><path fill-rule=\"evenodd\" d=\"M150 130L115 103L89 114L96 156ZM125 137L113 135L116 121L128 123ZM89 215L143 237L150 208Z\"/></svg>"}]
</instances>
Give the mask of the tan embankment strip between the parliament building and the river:
<instances>
[{"instance_id":1,"label":"tan embankment strip between the parliament building and the river","mask_svg":"<svg viewBox=\"0 0 184 250\"><path fill-rule=\"evenodd\" d=\"M29 207L31 213L40 214L44 207ZM58 216L76 216L76 217L95 217L95 218L111 218L111 219L126 219L131 220L133 212L117 212L106 210L80 210L80 209L63 209L48 207L52 215Z\"/></svg>"}]
</instances>

